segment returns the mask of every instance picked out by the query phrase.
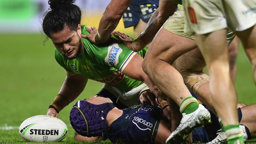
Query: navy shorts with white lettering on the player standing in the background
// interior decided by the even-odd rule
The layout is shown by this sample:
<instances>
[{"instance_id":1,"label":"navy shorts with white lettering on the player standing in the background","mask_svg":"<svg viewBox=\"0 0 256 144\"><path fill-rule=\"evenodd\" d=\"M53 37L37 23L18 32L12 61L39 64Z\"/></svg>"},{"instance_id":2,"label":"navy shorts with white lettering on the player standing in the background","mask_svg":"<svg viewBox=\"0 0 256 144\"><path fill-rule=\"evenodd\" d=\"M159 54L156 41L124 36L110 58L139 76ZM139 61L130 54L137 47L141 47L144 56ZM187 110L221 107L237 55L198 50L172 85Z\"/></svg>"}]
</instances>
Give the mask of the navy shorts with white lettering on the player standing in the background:
<instances>
[{"instance_id":1,"label":"navy shorts with white lettering on the player standing in the background","mask_svg":"<svg viewBox=\"0 0 256 144\"><path fill-rule=\"evenodd\" d=\"M159 0L133 0L123 14L124 27L136 26L139 20L147 23L159 5Z\"/></svg>"}]
</instances>

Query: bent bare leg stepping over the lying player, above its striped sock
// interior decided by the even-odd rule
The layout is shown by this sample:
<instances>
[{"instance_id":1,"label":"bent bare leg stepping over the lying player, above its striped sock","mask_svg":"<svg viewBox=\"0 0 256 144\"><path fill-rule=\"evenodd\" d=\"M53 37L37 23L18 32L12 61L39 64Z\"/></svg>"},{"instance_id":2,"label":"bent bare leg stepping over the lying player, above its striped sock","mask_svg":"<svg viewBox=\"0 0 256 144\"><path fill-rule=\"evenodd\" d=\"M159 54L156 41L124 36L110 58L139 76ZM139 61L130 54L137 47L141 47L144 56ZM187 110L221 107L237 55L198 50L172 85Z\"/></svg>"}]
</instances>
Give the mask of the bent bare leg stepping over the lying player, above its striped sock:
<instances>
[{"instance_id":1,"label":"bent bare leg stepping over the lying player, above its striped sock","mask_svg":"<svg viewBox=\"0 0 256 144\"><path fill-rule=\"evenodd\" d=\"M145 73L161 92L178 105L191 94L184 84L182 76L171 64L180 55L195 47L195 41L161 28L143 61Z\"/></svg>"}]
</instances>

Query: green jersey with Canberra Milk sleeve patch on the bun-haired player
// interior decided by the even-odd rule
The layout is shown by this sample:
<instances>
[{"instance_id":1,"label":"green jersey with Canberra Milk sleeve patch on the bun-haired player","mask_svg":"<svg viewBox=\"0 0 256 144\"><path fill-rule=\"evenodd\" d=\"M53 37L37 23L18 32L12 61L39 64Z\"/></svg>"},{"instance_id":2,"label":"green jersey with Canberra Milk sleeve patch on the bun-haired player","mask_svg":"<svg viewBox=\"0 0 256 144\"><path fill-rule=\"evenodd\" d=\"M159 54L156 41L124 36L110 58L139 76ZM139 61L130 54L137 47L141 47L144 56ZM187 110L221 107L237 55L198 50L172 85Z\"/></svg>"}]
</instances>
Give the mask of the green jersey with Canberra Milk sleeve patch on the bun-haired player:
<instances>
[{"instance_id":1,"label":"green jersey with Canberra Milk sleeve patch on the bun-haired player","mask_svg":"<svg viewBox=\"0 0 256 144\"><path fill-rule=\"evenodd\" d=\"M87 35L88 26L81 26L82 34ZM107 83L117 89L127 92L138 87L143 82L129 78L122 74L136 52L130 50L112 35L110 41L95 45L88 39L82 38L83 54L69 60L55 49L56 61L65 68L68 74L80 74L88 79ZM137 52L145 56L147 48Z\"/></svg>"}]
</instances>

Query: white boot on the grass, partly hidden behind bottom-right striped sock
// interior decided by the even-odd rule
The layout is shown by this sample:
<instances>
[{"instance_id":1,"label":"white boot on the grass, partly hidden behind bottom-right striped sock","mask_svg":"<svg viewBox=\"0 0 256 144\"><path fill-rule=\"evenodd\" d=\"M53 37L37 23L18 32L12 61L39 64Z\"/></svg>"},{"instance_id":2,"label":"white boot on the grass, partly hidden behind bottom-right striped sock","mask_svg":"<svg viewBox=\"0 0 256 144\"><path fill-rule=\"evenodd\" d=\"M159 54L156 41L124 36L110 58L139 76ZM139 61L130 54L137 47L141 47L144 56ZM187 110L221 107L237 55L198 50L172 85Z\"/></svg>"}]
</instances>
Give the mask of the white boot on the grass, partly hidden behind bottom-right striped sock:
<instances>
[{"instance_id":1,"label":"white boot on the grass, partly hidden behind bottom-right striped sock","mask_svg":"<svg viewBox=\"0 0 256 144\"><path fill-rule=\"evenodd\" d=\"M243 140L244 141L248 140L248 135L246 133L245 126L240 125L239 127L243 133ZM228 142L226 133L224 131L222 131L221 129L219 131L220 132L217 133L218 134L217 137L214 138L213 140L211 140L211 142L208 142L207 144L222 144L222 143Z\"/></svg>"}]
</instances>

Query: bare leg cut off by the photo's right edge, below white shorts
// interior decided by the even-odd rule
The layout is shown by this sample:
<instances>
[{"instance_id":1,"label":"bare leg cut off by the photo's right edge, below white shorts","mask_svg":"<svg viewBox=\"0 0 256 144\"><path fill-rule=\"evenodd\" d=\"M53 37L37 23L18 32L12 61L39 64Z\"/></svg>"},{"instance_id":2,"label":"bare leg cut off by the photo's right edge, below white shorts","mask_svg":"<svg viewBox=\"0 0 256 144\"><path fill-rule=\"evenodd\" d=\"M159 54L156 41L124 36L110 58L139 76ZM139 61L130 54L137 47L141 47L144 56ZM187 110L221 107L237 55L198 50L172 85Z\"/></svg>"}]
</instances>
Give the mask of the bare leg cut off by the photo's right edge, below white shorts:
<instances>
[{"instance_id":1,"label":"bare leg cut off by the photo's right edge, below white shorts","mask_svg":"<svg viewBox=\"0 0 256 144\"><path fill-rule=\"evenodd\" d=\"M236 34L241 40L245 53L252 63L254 83L256 85L256 25L245 31L236 31Z\"/></svg>"}]
</instances>

